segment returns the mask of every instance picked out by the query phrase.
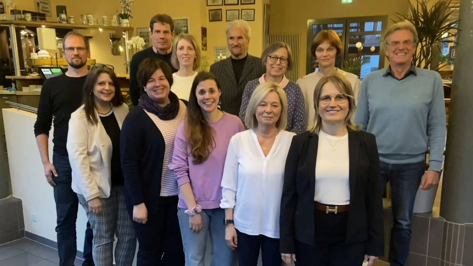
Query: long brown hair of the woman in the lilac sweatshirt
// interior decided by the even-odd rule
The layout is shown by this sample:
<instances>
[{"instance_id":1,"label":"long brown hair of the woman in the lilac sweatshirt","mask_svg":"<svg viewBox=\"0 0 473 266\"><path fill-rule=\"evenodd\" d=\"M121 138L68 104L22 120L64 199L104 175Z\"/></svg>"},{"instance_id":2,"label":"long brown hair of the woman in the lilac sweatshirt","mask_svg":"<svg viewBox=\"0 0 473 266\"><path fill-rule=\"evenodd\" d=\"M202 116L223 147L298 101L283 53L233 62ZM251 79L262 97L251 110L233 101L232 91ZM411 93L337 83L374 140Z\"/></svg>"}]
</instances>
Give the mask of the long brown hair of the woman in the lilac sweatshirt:
<instances>
[{"instance_id":1,"label":"long brown hair of the woman in the lilac sweatshirt","mask_svg":"<svg viewBox=\"0 0 473 266\"><path fill-rule=\"evenodd\" d=\"M217 89L220 89L220 83L212 73L200 72L195 76L192 83L189 103L187 104L187 116L185 120L185 129L187 133L187 143L191 148L190 154L193 157L194 164L201 164L209 159L210 153L215 147L215 141L212 135L212 127L205 119L201 106L197 102L196 90L199 83L205 80L214 80Z\"/></svg>"}]
</instances>

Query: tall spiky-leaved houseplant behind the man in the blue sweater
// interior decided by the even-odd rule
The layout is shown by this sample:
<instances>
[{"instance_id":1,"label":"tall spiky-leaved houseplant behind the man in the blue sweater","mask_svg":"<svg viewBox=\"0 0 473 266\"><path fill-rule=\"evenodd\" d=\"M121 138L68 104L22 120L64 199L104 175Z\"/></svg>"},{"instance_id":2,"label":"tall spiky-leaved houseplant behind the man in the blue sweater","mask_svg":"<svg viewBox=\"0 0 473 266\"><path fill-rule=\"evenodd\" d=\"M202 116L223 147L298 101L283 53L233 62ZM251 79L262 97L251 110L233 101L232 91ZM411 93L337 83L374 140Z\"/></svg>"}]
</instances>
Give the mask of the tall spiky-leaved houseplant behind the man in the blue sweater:
<instances>
[{"instance_id":1,"label":"tall spiky-leaved houseplant behind the man in the blue sweater","mask_svg":"<svg viewBox=\"0 0 473 266\"><path fill-rule=\"evenodd\" d=\"M420 68L437 71L444 65L435 63L441 60L437 52L438 45L455 43L450 37L455 36L458 30L459 19L452 16L458 4L453 4L452 0L438 0L430 6L429 1L417 0L414 4L409 2L407 14L396 13L397 20L394 22L409 21L417 30L419 41L417 51L412 58L413 64ZM436 55L438 58L434 58Z\"/></svg>"}]
</instances>

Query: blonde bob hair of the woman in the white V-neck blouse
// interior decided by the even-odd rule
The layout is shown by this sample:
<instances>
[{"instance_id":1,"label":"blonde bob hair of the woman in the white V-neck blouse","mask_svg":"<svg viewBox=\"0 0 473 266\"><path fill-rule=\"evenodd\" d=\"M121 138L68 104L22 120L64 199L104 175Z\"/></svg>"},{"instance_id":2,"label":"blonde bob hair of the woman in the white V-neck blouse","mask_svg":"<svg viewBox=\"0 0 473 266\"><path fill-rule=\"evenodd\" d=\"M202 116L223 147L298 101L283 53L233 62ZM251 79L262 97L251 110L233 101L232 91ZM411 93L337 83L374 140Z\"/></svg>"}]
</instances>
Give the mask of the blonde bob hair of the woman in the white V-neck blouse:
<instances>
[{"instance_id":1,"label":"blonde bob hair of the woman in the white V-neck blouse","mask_svg":"<svg viewBox=\"0 0 473 266\"><path fill-rule=\"evenodd\" d=\"M281 103L281 114L278 121L276 122L276 127L278 131L285 130L288 125L288 98L284 90L279 87L277 83L268 82L258 85L251 94L250 102L248 107L246 107L245 114L245 125L249 129L255 129L258 126L258 120L256 119L256 108L261 101L268 96L268 94L276 92L279 95Z\"/></svg>"}]
</instances>

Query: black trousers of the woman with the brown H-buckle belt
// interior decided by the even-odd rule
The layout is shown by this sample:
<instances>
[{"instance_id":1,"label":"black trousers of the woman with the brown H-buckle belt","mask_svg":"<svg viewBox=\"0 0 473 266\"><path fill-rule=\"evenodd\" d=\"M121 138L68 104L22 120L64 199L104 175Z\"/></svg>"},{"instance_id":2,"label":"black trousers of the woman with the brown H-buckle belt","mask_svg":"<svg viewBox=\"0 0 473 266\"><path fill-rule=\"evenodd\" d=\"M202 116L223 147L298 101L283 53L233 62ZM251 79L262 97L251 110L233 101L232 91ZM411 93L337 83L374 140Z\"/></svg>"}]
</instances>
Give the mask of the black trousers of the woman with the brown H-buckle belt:
<instances>
[{"instance_id":1,"label":"black trousers of the woman with the brown H-buckle belt","mask_svg":"<svg viewBox=\"0 0 473 266\"><path fill-rule=\"evenodd\" d=\"M361 266L366 243L346 244L348 212L314 212L315 246L296 241L296 266Z\"/></svg>"}]
</instances>

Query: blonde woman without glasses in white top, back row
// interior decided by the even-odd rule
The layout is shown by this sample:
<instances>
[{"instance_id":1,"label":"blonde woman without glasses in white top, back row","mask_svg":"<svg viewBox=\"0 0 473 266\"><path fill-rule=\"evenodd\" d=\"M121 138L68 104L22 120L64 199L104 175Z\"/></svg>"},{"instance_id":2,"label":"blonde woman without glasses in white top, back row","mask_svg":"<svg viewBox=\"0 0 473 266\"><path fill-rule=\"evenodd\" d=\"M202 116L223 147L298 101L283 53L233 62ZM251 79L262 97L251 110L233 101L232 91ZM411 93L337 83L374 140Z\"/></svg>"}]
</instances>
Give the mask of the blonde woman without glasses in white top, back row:
<instances>
[{"instance_id":1,"label":"blonde woman without glasses in white top, back row","mask_svg":"<svg viewBox=\"0 0 473 266\"><path fill-rule=\"evenodd\" d=\"M188 101L196 70L201 65L201 49L193 35L181 34L175 38L171 63L178 69L173 73L171 91L177 98Z\"/></svg>"}]
</instances>

